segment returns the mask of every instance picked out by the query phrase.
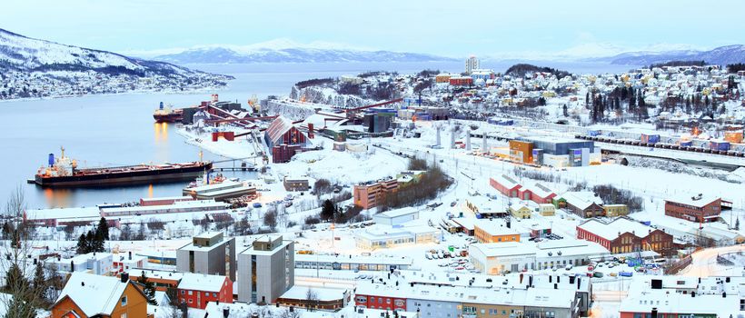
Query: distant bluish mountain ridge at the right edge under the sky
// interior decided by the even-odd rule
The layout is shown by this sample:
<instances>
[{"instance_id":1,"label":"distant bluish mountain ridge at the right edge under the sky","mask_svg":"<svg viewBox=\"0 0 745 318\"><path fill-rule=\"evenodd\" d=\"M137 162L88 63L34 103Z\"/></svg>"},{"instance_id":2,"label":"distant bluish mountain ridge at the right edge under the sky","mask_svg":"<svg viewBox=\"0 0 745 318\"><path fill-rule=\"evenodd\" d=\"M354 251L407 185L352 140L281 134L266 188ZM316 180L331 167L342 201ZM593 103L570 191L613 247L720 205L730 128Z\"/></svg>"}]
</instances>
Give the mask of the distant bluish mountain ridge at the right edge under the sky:
<instances>
[{"instance_id":1,"label":"distant bluish mountain ridge at the right edge under the sky","mask_svg":"<svg viewBox=\"0 0 745 318\"><path fill-rule=\"evenodd\" d=\"M706 61L710 65L730 65L745 63L745 45L720 46L710 51L628 52L591 60L615 65L652 65L669 61Z\"/></svg>"}]
</instances>

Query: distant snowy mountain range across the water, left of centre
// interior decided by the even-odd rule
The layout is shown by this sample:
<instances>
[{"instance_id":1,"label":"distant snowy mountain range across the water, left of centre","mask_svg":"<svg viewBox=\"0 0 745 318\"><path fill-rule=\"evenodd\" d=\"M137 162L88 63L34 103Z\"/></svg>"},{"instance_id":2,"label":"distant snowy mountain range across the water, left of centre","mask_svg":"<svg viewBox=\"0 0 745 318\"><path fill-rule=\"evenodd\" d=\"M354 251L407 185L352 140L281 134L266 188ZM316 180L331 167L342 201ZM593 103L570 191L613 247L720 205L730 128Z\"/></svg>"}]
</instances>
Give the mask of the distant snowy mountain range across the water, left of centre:
<instances>
[{"instance_id":1,"label":"distant snowy mountain range across the water, left of centre","mask_svg":"<svg viewBox=\"0 0 745 318\"><path fill-rule=\"evenodd\" d=\"M255 48L240 52L225 47L206 47L189 49L176 54L158 55L154 59L175 64L459 61L451 57L418 53L307 47Z\"/></svg>"}]
</instances>

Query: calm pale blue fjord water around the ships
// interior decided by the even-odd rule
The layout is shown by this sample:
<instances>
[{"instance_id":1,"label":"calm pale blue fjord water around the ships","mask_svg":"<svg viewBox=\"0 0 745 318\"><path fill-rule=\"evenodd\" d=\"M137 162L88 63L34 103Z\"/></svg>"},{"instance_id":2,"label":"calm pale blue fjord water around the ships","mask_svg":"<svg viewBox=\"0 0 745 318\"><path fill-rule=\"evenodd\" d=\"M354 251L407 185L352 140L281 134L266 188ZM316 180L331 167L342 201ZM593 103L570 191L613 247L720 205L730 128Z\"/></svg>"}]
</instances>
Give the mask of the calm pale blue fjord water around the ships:
<instances>
[{"instance_id":1,"label":"calm pale blue fjord water around the ships","mask_svg":"<svg viewBox=\"0 0 745 318\"><path fill-rule=\"evenodd\" d=\"M512 63L482 64L503 72ZM578 73L619 72L629 66L604 64L541 64ZM462 63L396 64L286 64L286 65L187 65L208 72L235 76L227 89L194 94L115 94L0 103L0 203L17 186L23 188L29 208L122 203L142 197L180 195L184 183L145 184L101 189L41 189L26 184L46 163L47 154L65 155L81 166L186 162L198 159L199 149L184 144L174 124L155 124L159 102L184 107L220 94L221 100L245 103L252 94L289 94L298 81L318 77L388 70L414 73L425 68L461 72ZM209 160L224 159L204 153ZM226 173L228 174L228 173ZM233 174L228 174L233 175ZM251 173L235 176L251 178Z\"/></svg>"}]
</instances>

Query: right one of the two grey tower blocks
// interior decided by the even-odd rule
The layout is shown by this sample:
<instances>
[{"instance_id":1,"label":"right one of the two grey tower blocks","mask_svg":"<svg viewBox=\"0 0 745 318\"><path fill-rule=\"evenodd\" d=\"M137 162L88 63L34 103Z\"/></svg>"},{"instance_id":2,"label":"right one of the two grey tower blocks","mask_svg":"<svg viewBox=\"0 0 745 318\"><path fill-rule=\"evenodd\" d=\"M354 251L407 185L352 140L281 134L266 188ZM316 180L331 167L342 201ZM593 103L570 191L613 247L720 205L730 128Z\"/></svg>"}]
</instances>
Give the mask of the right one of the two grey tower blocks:
<instances>
[{"instance_id":1,"label":"right one of the two grey tower blocks","mask_svg":"<svg viewBox=\"0 0 745 318\"><path fill-rule=\"evenodd\" d=\"M282 235L263 235L239 253L238 301L274 303L295 283L293 241Z\"/></svg>"}]
</instances>

